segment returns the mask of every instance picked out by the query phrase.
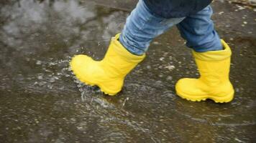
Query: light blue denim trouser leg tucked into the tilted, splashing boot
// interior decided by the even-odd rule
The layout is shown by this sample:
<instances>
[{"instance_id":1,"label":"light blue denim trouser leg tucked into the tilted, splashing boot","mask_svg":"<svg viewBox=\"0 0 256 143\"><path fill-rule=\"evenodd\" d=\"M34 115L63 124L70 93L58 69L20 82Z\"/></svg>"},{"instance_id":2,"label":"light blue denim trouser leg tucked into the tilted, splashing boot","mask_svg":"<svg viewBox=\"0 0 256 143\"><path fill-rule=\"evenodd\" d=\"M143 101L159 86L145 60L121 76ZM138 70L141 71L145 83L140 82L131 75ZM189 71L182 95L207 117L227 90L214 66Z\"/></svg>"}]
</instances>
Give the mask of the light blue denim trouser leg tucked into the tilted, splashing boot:
<instances>
[{"instance_id":1,"label":"light blue denim trouser leg tucked into the tilted, splashing boot","mask_svg":"<svg viewBox=\"0 0 256 143\"><path fill-rule=\"evenodd\" d=\"M136 9L128 16L119 41L132 54L142 55L150 46L150 41L178 24L184 18L165 19L154 16L140 0Z\"/></svg>"}]
</instances>

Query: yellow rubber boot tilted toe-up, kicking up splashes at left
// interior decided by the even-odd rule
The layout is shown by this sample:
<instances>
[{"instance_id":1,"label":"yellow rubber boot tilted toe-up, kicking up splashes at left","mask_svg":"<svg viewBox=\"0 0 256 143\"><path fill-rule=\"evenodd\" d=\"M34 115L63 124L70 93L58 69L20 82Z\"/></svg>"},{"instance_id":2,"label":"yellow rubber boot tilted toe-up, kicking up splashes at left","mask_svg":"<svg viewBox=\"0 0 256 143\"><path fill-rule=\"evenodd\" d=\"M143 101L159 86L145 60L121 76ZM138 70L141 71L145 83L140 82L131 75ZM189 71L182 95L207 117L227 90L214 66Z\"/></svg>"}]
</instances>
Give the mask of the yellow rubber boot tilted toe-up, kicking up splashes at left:
<instances>
[{"instance_id":1,"label":"yellow rubber boot tilted toe-up, kicking up splashes at left","mask_svg":"<svg viewBox=\"0 0 256 143\"><path fill-rule=\"evenodd\" d=\"M97 85L102 92L111 96L120 92L124 77L145 58L145 54L131 54L118 41L119 34L111 39L109 49L101 61L94 61L86 55L74 56L70 67L83 83Z\"/></svg>"}]
</instances>

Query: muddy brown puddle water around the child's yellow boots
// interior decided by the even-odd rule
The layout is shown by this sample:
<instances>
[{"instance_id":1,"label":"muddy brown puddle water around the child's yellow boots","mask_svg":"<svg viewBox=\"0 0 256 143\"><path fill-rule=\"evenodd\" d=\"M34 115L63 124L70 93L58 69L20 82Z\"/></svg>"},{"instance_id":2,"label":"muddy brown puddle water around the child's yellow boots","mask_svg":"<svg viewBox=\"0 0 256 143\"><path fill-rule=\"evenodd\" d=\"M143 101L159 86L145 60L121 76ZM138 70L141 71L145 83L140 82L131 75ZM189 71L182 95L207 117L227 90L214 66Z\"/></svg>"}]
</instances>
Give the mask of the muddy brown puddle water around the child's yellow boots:
<instances>
[{"instance_id":1,"label":"muddy brown puddle water around the child's yellow boots","mask_svg":"<svg viewBox=\"0 0 256 143\"><path fill-rule=\"evenodd\" d=\"M175 95L178 79L198 77L177 29L155 39L119 96L107 97L73 79L68 61L81 53L101 59L127 11L106 1L1 2L0 142L256 141L255 12L213 6L233 49L236 96L228 104Z\"/></svg>"}]
</instances>

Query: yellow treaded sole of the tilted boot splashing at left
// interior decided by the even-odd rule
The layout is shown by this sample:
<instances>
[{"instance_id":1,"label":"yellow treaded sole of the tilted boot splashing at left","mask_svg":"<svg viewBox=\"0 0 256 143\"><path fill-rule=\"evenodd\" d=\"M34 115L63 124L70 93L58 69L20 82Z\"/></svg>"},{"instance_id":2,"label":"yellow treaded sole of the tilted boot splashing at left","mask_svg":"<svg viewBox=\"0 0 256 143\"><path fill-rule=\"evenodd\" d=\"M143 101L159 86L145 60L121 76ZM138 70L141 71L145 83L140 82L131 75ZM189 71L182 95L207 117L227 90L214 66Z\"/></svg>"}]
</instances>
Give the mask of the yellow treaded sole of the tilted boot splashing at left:
<instances>
[{"instance_id":1,"label":"yellow treaded sole of the tilted boot splashing at left","mask_svg":"<svg viewBox=\"0 0 256 143\"><path fill-rule=\"evenodd\" d=\"M109 92L109 89L107 89L106 87L102 86L101 84L96 84L96 82L88 82L88 80L79 77L79 76L78 76L78 73L76 73L76 71L74 71L73 68L72 68L72 61L70 62L70 69L72 70L73 74L76 76L76 78L77 78L78 80L80 80L80 81L83 82L84 84L89 85L89 86L91 86L91 87L93 87L93 86L95 86L95 85L98 86L99 89L101 90L101 92L103 92L104 94L107 94L107 95L109 95L109 96L114 96L115 94L117 94L118 92L120 92L120 91L118 91L118 92Z\"/></svg>"}]
</instances>

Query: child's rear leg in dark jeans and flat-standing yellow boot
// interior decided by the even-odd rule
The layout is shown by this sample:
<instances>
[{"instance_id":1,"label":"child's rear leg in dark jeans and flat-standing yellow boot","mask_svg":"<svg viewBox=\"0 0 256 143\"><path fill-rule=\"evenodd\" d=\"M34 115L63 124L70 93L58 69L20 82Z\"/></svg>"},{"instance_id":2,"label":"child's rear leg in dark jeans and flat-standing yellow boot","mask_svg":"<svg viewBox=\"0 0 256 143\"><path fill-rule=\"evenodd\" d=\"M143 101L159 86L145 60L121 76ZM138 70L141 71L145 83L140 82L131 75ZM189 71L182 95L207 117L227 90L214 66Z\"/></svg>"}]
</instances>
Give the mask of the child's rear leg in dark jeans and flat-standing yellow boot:
<instances>
[{"instance_id":1,"label":"child's rear leg in dark jeans and flat-standing yellow boot","mask_svg":"<svg viewBox=\"0 0 256 143\"><path fill-rule=\"evenodd\" d=\"M229 82L231 49L219 39L211 14L208 6L178 24L188 47L193 49L200 77L180 79L175 89L178 96L191 101L213 99L215 102L230 102L234 97L234 89Z\"/></svg>"}]
</instances>

